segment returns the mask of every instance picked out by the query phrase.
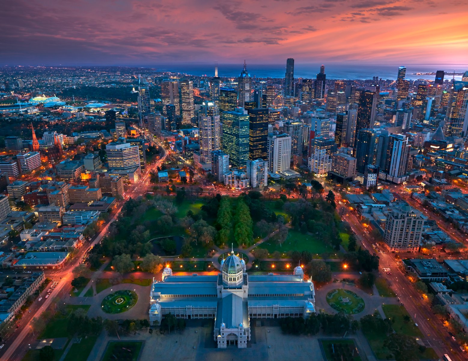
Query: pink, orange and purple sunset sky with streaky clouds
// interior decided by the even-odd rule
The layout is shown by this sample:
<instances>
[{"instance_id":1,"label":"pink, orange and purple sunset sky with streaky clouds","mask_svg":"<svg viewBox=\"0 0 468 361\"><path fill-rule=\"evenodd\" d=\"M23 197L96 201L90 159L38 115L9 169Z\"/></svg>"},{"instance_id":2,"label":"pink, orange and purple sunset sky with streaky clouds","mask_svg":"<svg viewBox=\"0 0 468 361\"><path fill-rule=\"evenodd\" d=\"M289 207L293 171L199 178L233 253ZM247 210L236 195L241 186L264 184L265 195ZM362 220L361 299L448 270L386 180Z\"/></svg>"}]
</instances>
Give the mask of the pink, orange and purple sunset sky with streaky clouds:
<instances>
[{"instance_id":1,"label":"pink, orange and purple sunset sky with streaky clouds","mask_svg":"<svg viewBox=\"0 0 468 361\"><path fill-rule=\"evenodd\" d=\"M467 0L2 1L0 65L465 64Z\"/></svg>"}]
</instances>

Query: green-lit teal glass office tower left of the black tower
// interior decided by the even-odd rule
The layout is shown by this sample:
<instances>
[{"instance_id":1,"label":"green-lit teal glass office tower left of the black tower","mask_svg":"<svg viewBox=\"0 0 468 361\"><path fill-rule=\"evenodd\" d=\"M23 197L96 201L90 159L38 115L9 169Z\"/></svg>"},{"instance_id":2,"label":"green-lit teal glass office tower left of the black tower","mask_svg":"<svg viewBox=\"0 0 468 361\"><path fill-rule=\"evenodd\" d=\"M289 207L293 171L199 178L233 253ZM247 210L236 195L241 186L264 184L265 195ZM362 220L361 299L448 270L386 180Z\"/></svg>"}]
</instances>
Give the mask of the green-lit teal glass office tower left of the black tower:
<instances>
[{"instance_id":1,"label":"green-lit teal glass office tower left of the black tower","mask_svg":"<svg viewBox=\"0 0 468 361\"><path fill-rule=\"evenodd\" d=\"M249 159L249 114L243 108L221 113L223 151L234 167L243 167Z\"/></svg>"}]
</instances>

